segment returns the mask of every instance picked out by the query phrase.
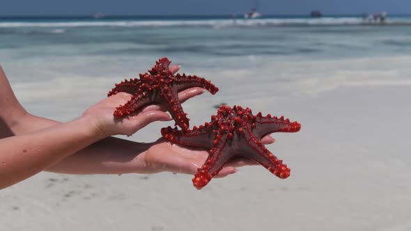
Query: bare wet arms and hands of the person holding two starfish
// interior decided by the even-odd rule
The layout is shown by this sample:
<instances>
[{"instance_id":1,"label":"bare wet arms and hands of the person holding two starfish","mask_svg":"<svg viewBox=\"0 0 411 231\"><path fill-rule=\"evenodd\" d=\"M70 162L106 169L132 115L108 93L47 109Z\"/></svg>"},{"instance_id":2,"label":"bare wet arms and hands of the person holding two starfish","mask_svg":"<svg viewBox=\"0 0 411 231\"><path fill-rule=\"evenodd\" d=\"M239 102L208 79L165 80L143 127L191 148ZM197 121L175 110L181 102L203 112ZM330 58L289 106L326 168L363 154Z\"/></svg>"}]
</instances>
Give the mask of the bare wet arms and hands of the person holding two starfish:
<instances>
[{"instance_id":1,"label":"bare wet arms and hands of the person holding two starfish","mask_svg":"<svg viewBox=\"0 0 411 231\"><path fill-rule=\"evenodd\" d=\"M170 67L177 72L178 66ZM204 92L191 88L179 93L182 102ZM137 143L110 136L131 136L155 121L171 118L161 106L151 105L116 120L113 111L131 95L118 93L87 109L77 120L57 122L33 116L18 102L0 66L0 189L46 170L67 174L172 173L193 174L208 157L207 150L183 147L162 138ZM274 143L265 136L263 143ZM230 161L217 177L254 165L246 159Z\"/></svg>"}]
</instances>

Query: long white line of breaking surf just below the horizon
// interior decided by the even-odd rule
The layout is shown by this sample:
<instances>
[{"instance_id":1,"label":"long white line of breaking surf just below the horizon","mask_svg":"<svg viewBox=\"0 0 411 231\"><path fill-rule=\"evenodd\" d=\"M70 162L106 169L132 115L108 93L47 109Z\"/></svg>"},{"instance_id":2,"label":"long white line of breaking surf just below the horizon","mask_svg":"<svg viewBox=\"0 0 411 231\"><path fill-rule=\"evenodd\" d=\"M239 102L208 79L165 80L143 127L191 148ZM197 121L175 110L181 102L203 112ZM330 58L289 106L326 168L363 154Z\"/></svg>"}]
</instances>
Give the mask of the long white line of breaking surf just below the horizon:
<instances>
[{"instance_id":1,"label":"long white line of breaking surf just below the horizon","mask_svg":"<svg viewBox=\"0 0 411 231\"><path fill-rule=\"evenodd\" d=\"M377 24L377 23L375 23ZM288 19L189 19L189 20L107 20L107 21L78 21L78 22L0 22L0 28L15 27L170 27L170 26L207 26L219 29L226 26L344 26L344 25L373 25L364 22L359 17L323 17L288 18ZM390 18L385 25L410 25L411 18ZM61 29L59 29L61 30Z\"/></svg>"}]
</instances>

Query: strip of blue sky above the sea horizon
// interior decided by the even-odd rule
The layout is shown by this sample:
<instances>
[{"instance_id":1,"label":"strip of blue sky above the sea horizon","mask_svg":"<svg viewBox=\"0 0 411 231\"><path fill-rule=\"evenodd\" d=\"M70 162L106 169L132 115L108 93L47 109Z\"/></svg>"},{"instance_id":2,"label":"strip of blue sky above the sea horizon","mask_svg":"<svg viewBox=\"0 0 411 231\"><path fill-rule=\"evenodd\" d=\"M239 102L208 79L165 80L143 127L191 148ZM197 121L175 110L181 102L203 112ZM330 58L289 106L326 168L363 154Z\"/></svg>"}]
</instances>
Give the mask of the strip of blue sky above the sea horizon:
<instances>
[{"instance_id":1,"label":"strip of blue sky above the sea horizon","mask_svg":"<svg viewBox=\"0 0 411 231\"><path fill-rule=\"evenodd\" d=\"M253 0L1 0L0 17L10 15L228 15L244 13ZM373 13L411 14L411 0L259 0L265 15Z\"/></svg>"}]
</instances>

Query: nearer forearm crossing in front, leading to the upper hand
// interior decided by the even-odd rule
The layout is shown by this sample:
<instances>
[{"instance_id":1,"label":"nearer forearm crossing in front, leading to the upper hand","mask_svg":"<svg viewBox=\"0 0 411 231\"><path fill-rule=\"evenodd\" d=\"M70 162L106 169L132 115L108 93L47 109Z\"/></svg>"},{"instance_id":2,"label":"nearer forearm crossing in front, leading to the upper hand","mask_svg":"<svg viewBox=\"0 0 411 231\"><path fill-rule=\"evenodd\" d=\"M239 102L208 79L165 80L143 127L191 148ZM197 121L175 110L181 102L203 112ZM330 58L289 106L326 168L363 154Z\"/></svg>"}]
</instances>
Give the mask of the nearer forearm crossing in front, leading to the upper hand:
<instances>
[{"instance_id":1,"label":"nearer forearm crossing in front, leading to the upper hand","mask_svg":"<svg viewBox=\"0 0 411 231\"><path fill-rule=\"evenodd\" d=\"M20 182L100 138L81 118L21 136L0 139L0 189Z\"/></svg>"}]
</instances>

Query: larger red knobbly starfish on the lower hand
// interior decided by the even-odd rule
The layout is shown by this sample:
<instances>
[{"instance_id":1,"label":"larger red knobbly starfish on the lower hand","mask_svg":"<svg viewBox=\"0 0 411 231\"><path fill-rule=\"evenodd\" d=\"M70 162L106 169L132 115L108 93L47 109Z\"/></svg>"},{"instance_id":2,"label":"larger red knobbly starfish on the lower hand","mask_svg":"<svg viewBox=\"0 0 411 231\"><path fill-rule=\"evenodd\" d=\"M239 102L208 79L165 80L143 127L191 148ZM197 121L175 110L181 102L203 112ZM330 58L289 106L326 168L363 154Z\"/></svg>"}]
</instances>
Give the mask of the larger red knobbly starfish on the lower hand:
<instances>
[{"instance_id":1,"label":"larger red knobbly starfish on the lower hand","mask_svg":"<svg viewBox=\"0 0 411 231\"><path fill-rule=\"evenodd\" d=\"M256 161L281 179L287 178L290 168L265 148L261 138L273 132L298 132L300 128L298 122L284 120L284 116L263 117L261 112L254 116L249 108L220 106L210 123L187 131L166 127L162 136L182 145L210 149L208 159L192 180L197 189L202 189L229 159L238 155Z\"/></svg>"}]
</instances>

